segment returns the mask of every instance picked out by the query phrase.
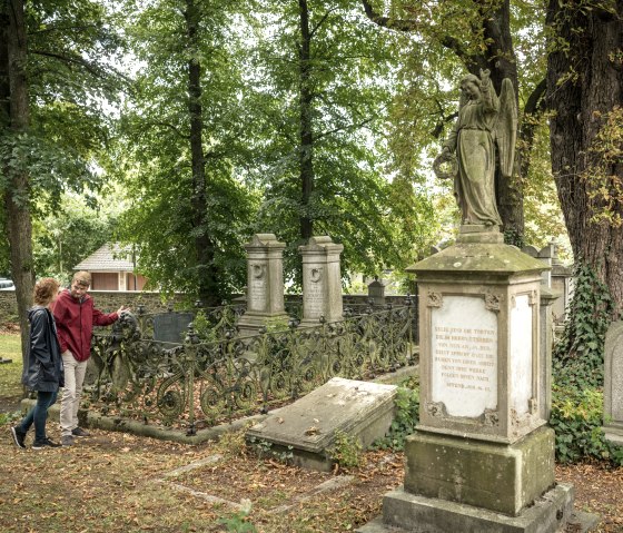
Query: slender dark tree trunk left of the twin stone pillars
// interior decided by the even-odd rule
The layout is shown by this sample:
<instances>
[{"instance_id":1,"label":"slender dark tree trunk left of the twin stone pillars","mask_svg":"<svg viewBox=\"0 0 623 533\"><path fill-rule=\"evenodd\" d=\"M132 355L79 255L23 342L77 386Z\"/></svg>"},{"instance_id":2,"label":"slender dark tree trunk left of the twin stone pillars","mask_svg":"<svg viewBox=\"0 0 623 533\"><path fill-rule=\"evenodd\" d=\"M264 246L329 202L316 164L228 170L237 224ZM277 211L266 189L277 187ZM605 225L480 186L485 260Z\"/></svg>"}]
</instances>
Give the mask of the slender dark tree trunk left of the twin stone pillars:
<instances>
[{"instance_id":1,"label":"slender dark tree trunk left of the twin stone pillars","mask_svg":"<svg viewBox=\"0 0 623 533\"><path fill-rule=\"evenodd\" d=\"M201 63L198 59L200 8L195 0L186 0L186 31L190 59L188 60L188 113L190 116L190 154L192 168L192 213L195 251L197 258L198 296L208 306L220 303L218 273L214 263L215 247L207 220L206 157L202 136Z\"/></svg>"}]
</instances>

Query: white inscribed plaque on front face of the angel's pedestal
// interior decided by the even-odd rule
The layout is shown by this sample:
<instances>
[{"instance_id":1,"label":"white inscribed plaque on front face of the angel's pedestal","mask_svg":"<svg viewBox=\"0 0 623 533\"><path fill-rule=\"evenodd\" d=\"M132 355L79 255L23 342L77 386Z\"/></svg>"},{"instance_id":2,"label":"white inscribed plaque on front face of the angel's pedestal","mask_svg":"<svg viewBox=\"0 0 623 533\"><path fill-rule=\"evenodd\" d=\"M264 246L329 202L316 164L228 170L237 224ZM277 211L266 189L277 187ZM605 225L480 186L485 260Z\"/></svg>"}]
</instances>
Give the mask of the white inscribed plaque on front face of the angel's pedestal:
<instances>
[{"instance_id":1,"label":"white inscribed plaque on front face of the angel's pedestal","mask_svg":"<svg viewBox=\"0 0 623 533\"><path fill-rule=\"evenodd\" d=\"M432 394L451 416L497 407L497 315L482 296L444 296L432 310Z\"/></svg>"}]
</instances>

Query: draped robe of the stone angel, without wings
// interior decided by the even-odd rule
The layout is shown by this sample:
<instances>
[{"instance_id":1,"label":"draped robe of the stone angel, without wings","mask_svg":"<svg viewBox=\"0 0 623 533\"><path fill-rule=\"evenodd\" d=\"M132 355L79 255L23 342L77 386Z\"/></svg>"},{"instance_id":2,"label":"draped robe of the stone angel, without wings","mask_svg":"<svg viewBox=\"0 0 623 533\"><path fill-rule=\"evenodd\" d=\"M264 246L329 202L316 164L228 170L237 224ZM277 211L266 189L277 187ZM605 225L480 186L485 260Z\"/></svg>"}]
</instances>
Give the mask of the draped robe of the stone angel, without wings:
<instances>
[{"instance_id":1,"label":"draped robe of the stone angel, without wings","mask_svg":"<svg viewBox=\"0 0 623 533\"><path fill-rule=\"evenodd\" d=\"M463 224L500 226L495 203L494 131L500 102L491 80L478 99L468 100L458 110L458 119L444 146L456 151L458 171L454 193Z\"/></svg>"}]
</instances>

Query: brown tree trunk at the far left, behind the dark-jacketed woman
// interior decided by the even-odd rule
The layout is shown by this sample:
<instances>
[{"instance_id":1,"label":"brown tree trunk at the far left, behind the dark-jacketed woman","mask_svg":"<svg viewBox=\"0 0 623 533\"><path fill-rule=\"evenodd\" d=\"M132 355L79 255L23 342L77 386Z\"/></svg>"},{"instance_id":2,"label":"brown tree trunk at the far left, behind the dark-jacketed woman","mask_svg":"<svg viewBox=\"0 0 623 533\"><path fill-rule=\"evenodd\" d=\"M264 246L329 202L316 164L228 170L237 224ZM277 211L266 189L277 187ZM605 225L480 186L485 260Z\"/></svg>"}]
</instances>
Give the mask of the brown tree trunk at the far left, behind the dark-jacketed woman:
<instances>
[{"instance_id":1,"label":"brown tree trunk at the far left, behind the dark-jacketed woman","mask_svg":"<svg viewBox=\"0 0 623 533\"><path fill-rule=\"evenodd\" d=\"M2 102L2 129L4 134L17 139L28 132L29 102L26 75L27 48L23 20L23 0L7 0L2 13L3 50L0 52L0 72L4 80L0 82ZM7 155L7 158L11 157ZM4 190L4 209L7 233L10 246L11 274L16 285L16 298L21 333L22 358L26 364L28 346L28 308L32 305L34 273L32 263L32 225L30 220L30 184L23 165L10 165L1 161L7 177Z\"/></svg>"}]
</instances>

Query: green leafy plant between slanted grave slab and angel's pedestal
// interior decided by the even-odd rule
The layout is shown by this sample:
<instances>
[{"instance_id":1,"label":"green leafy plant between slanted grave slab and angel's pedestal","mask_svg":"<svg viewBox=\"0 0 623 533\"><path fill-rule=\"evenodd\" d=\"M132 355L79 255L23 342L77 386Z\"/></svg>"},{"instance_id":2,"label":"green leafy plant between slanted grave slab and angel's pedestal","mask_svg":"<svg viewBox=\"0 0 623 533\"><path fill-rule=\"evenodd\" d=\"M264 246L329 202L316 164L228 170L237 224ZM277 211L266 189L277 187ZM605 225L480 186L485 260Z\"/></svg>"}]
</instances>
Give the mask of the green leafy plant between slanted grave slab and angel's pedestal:
<instances>
[{"instance_id":1,"label":"green leafy plant between slanted grave slab and angel's pedestal","mask_svg":"<svg viewBox=\"0 0 623 533\"><path fill-rule=\"evenodd\" d=\"M374 443L377 448L404 450L405 438L415 432L419 422L419 386L416 379L409 379L398 387L394 404L394 421L387 435Z\"/></svg>"}]
</instances>

